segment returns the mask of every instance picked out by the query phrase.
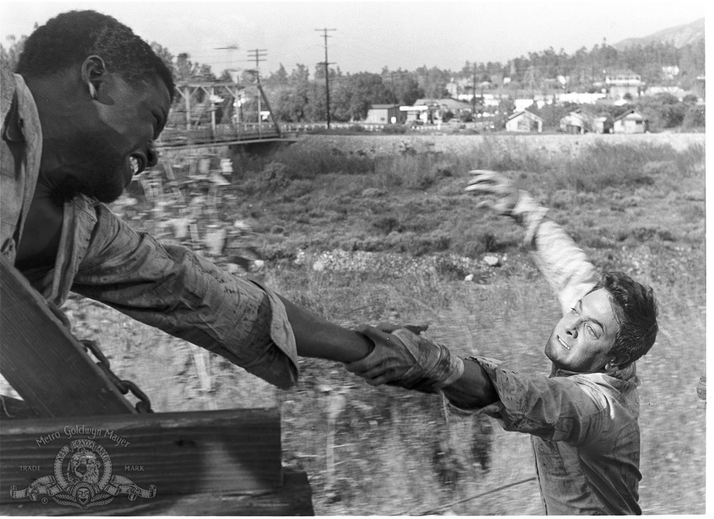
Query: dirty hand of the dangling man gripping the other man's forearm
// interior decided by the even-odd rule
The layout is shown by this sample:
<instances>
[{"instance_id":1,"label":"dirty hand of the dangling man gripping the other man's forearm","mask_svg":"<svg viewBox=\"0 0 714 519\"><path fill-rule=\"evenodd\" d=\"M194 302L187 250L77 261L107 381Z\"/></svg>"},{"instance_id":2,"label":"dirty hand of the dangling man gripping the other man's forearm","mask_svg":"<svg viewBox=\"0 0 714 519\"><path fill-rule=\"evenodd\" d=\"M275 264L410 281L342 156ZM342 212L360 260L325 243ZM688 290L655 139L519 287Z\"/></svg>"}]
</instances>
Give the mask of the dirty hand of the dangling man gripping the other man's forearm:
<instances>
[{"instance_id":1,"label":"dirty hand of the dangling man gripping the other man's forearm","mask_svg":"<svg viewBox=\"0 0 714 519\"><path fill-rule=\"evenodd\" d=\"M360 361L346 364L346 368L365 378L371 386L386 383L422 393L436 393L458 380L463 373L461 358L452 356L444 346L407 328L383 323L378 328L358 326L356 331L370 338L375 347Z\"/></svg>"}]
</instances>

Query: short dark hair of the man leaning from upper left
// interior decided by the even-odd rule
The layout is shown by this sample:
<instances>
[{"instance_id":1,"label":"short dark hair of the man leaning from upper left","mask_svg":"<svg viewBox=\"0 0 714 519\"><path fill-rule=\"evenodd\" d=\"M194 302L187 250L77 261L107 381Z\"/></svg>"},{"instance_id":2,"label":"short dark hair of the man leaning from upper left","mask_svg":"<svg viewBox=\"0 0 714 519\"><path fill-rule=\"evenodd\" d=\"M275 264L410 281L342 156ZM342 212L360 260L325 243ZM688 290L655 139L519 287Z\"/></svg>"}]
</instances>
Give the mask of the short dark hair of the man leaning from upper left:
<instances>
[{"instance_id":1,"label":"short dark hair of the man leaning from upper left","mask_svg":"<svg viewBox=\"0 0 714 519\"><path fill-rule=\"evenodd\" d=\"M174 100L174 78L146 41L118 20L96 11L69 11L47 21L25 41L16 73L47 77L96 54L107 70L136 86L157 74Z\"/></svg>"}]
</instances>

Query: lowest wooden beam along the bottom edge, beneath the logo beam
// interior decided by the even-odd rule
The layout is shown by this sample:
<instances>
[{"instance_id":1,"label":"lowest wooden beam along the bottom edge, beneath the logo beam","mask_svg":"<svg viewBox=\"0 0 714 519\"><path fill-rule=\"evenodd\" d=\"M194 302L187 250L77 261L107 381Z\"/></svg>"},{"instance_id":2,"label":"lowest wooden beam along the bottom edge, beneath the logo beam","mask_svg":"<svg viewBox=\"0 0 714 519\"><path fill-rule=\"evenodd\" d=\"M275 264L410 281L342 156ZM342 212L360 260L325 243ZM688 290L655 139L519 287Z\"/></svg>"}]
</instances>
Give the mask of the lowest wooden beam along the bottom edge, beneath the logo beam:
<instances>
[{"instance_id":1,"label":"lowest wooden beam along the bottom edge, beneath the logo beam","mask_svg":"<svg viewBox=\"0 0 714 519\"><path fill-rule=\"evenodd\" d=\"M314 515L312 490L305 473L286 471L284 481L281 487L257 493L156 495L134 501L122 496L114 498L109 505L88 509L58 505L51 499L47 503L38 500L3 505L2 515Z\"/></svg>"}]
</instances>

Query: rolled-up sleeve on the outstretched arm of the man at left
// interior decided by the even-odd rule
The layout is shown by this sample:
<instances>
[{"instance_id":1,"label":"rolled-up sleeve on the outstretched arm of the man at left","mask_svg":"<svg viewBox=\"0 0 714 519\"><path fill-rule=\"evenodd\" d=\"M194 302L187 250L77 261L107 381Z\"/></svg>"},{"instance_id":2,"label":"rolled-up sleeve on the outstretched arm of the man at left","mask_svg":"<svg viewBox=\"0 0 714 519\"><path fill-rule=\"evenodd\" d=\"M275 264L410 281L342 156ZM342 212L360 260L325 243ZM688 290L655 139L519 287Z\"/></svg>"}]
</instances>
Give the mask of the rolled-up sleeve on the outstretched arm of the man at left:
<instances>
[{"instance_id":1,"label":"rolled-up sleeve on the outstretched arm of the man at left","mask_svg":"<svg viewBox=\"0 0 714 519\"><path fill-rule=\"evenodd\" d=\"M104 205L72 291L227 358L287 388L295 337L280 298L183 246L137 233Z\"/></svg>"}]
</instances>

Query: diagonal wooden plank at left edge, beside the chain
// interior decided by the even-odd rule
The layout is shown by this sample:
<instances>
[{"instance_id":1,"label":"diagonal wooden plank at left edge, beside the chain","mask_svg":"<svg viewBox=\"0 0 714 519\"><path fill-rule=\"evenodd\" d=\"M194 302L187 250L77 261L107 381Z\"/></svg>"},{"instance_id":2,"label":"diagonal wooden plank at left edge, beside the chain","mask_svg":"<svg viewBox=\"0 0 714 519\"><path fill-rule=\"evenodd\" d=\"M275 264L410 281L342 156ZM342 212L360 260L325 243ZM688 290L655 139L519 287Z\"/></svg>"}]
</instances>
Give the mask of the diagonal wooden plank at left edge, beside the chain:
<instances>
[{"instance_id":1,"label":"diagonal wooden plank at left edge, beside the chain","mask_svg":"<svg viewBox=\"0 0 714 519\"><path fill-rule=\"evenodd\" d=\"M42 418L135 413L24 276L0 257L0 370Z\"/></svg>"}]
</instances>

